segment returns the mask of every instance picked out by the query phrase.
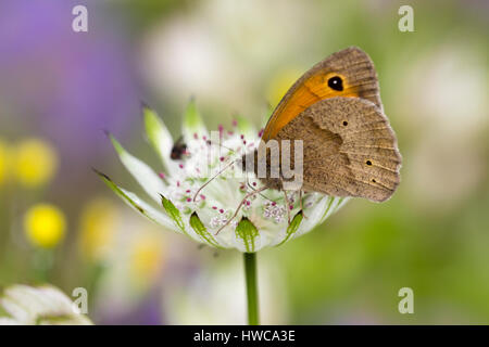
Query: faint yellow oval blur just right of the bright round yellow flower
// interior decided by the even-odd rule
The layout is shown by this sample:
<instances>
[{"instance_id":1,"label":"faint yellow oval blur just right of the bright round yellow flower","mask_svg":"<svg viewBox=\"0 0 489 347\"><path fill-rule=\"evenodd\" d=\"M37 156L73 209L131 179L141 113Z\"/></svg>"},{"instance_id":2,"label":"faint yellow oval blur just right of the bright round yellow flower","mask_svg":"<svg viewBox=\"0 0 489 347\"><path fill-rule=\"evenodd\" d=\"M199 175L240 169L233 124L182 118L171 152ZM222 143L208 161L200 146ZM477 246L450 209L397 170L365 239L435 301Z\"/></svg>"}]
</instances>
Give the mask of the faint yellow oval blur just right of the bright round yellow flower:
<instances>
[{"instance_id":1,"label":"faint yellow oval blur just right of the bright round yellow flower","mask_svg":"<svg viewBox=\"0 0 489 347\"><path fill-rule=\"evenodd\" d=\"M82 211L79 247L84 257L100 260L110 249L117 221L115 205L105 197L96 197Z\"/></svg>"}]
</instances>

